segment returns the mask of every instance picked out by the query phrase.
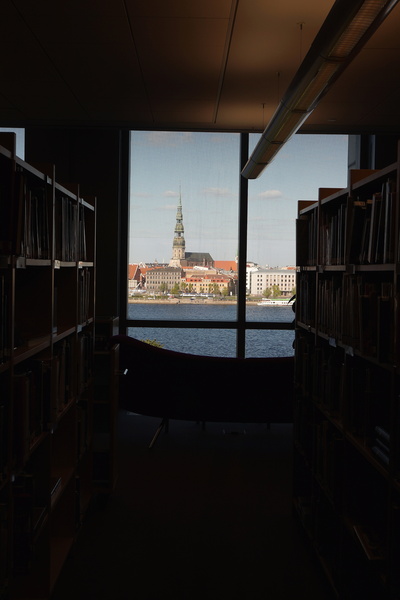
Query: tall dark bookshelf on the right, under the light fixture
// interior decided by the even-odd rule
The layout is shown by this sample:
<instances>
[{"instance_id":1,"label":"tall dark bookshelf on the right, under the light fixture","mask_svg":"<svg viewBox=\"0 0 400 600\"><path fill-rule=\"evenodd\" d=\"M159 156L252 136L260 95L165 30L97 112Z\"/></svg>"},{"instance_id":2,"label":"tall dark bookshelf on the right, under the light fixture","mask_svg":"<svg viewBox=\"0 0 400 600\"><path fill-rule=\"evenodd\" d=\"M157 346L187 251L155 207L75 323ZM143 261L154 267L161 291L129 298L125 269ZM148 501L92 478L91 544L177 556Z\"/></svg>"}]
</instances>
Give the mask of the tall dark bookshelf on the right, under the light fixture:
<instances>
[{"instance_id":1,"label":"tall dark bookshelf on the right, under the light fixture","mask_svg":"<svg viewBox=\"0 0 400 600\"><path fill-rule=\"evenodd\" d=\"M399 165L298 206L293 501L338 598L400 596Z\"/></svg>"}]
</instances>

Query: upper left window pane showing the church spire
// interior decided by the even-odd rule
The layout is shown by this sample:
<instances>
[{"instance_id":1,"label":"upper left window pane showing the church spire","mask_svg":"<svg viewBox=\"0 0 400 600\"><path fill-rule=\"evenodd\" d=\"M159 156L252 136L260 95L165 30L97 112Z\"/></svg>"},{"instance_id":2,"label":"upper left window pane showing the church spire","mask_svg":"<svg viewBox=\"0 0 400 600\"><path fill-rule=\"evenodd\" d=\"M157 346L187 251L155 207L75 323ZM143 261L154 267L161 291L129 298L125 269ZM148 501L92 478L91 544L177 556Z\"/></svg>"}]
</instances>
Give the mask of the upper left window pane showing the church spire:
<instances>
[{"instance_id":1,"label":"upper left window pane showing the church spire","mask_svg":"<svg viewBox=\"0 0 400 600\"><path fill-rule=\"evenodd\" d=\"M239 143L239 134L132 133L129 318L232 318ZM143 316L141 299L158 303L154 314Z\"/></svg>"}]
</instances>

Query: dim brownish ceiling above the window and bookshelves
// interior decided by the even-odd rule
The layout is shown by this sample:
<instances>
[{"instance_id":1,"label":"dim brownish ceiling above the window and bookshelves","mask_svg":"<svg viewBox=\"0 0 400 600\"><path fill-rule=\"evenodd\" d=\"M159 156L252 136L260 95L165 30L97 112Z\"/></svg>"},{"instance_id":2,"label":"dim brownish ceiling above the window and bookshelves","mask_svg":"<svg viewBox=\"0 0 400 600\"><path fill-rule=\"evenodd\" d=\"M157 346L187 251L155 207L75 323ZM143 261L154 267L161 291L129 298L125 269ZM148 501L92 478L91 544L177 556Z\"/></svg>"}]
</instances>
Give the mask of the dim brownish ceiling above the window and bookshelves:
<instances>
[{"instance_id":1,"label":"dim brownish ceiling above the window and bookshelves","mask_svg":"<svg viewBox=\"0 0 400 600\"><path fill-rule=\"evenodd\" d=\"M1 0L0 126L261 131L332 5ZM397 5L302 131L400 131L399 73Z\"/></svg>"}]
</instances>

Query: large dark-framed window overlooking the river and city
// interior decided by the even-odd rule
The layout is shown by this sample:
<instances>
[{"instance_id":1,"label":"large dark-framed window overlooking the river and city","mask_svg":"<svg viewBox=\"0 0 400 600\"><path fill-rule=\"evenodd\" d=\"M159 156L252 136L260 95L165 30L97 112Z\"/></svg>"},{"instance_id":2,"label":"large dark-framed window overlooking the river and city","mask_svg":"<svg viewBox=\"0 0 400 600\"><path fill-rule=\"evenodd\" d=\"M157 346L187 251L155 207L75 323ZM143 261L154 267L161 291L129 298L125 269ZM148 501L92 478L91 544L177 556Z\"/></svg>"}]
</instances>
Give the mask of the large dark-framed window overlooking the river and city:
<instances>
[{"instance_id":1,"label":"large dark-framed window overlooking the river and city","mask_svg":"<svg viewBox=\"0 0 400 600\"><path fill-rule=\"evenodd\" d=\"M195 354L293 353L297 201L346 186L347 138L294 136L243 186L258 138L132 132L130 335Z\"/></svg>"}]
</instances>

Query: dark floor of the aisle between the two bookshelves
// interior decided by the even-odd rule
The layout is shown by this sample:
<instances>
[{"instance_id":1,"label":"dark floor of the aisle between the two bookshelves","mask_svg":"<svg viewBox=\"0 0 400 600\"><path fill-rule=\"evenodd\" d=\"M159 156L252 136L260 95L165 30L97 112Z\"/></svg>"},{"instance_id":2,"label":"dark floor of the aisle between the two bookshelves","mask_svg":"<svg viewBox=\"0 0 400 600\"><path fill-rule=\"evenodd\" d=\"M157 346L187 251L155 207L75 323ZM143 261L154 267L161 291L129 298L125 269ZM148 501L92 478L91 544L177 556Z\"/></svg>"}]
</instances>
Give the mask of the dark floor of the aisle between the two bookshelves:
<instances>
[{"instance_id":1,"label":"dark floor of the aisle between the two bookshelves","mask_svg":"<svg viewBox=\"0 0 400 600\"><path fill-rule=\"evenodd\" d=\"M92 507L53 600L331 596L292 515L292 427L120 413L115 494Z\"/></svg>"}]
</instances>

